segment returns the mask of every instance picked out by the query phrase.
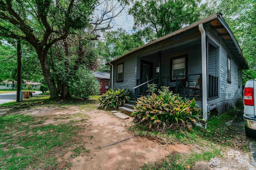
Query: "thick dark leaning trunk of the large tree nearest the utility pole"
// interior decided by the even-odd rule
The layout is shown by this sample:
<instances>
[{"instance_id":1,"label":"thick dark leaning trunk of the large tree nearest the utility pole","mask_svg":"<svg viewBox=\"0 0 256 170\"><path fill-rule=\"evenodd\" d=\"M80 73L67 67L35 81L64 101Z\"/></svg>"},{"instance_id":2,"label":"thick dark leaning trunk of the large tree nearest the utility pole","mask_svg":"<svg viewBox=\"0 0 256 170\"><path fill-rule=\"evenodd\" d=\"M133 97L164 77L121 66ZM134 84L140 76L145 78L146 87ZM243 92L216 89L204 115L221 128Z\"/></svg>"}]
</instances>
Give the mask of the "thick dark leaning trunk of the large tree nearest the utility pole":
<instances>
[{"instance_id":1,"label":"thick dark leaning trunk of the large tree nearest the utility pole","mask_svg":"<svg viewBox=\"0 0 256 170\"><path fill-rule=\"evenodd\" d=\"M50 74L50 68L49 65L47 63L47 53L44 54L43 50L38 52L38 59L40 61L42 70L43 70L43 76L44 76L44 80L46 81L46 83L48 84L48 88L50 90L50 99L57 99L59 98L59 94L58 94L58 90L56 88L56 84L55 84L55 80L52 77L52 75Z\"/></svg>"}]
</instances>

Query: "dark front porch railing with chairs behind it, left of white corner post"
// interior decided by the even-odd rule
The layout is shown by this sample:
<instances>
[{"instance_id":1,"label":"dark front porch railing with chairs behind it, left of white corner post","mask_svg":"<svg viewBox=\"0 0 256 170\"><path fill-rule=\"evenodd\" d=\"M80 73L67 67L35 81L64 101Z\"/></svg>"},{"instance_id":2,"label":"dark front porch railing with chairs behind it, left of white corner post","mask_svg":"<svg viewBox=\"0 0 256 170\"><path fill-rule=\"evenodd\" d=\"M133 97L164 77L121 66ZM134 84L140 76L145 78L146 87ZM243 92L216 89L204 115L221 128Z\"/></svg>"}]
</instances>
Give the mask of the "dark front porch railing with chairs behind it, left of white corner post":
<instances>
[{"instance_id":1,"label":"dark front porch railing with chairs behind it, left of white corner post","mask_svg":"<svg viewBox=\"0 0 256 170\"><path fill-rule=\"evenodd\" d=\"M160 77L160 82L160 86L167 86L182 97L202 99L202 74L186 74L184 79L180 76Z\"/></svg>"}]
</instances>

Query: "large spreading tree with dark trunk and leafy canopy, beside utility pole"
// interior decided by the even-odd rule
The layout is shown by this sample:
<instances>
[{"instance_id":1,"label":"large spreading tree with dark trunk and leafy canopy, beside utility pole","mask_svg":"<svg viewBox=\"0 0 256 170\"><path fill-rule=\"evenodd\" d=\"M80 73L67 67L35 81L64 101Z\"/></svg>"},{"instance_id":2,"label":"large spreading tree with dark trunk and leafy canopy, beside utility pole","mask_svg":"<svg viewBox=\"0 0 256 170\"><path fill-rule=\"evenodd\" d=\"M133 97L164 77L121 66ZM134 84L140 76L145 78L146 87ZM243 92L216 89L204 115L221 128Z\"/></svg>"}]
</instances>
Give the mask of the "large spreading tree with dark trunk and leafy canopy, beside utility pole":
<instances>
[{"instance_id":1,"label":"large spreading tree with dark trunk and leafy canopy, beside utility pole","mask_svg":"<svg viewBox=\"0 0 256 170\"><path fill-rule=\"evenodd\" d=\"M58 98L48 64L50 48L76 31L86 32L93 39L96 31L111 28L112 19L123 9L116 12L118 5L113 3L109 0L0 0L0 36L22 39L32 45L51 98Z\"/></svg>"}]
</instances>

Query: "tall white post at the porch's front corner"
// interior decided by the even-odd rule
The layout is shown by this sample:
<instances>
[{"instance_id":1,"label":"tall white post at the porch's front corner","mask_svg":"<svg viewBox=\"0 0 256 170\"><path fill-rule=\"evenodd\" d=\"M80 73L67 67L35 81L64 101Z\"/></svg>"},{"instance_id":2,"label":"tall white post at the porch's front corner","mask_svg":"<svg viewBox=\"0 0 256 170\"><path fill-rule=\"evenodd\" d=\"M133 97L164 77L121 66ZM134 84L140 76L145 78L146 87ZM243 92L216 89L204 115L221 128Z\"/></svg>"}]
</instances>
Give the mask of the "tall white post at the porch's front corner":
<instances>
[{"instance_id":1,"label":"tall white post at the porch's front corner","mask_svg":"<svg viewBox=\"0 0 256 170\"><path fill-rule=\"evenodd\" d=\"M203 24L198 25L201 32L201 47L202 47L202 97L203 97L203 119L208 119L207 114L207 69L206 69L206 33Z\"/></svg>"}]
</instances>

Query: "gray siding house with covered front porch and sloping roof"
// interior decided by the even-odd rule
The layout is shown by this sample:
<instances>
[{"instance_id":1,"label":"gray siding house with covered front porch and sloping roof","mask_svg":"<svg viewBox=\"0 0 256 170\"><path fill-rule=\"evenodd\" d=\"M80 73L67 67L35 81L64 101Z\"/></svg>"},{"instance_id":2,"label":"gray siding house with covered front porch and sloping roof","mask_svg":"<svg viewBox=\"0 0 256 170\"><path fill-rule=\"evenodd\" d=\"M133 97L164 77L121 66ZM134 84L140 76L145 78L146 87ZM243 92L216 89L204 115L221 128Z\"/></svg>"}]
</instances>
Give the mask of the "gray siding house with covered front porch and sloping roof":
<instances>
[{"instance_id":1,"label":"gray siding house with covered front porch and sloping roof","mask_svg":"<svg viewBox=\"0 0 256 170\"><path fill-rule=\"evenodd\" d=\"M106 63L110 87L130 90L134 100L146 84L169 86L174 93L195 98L208 112L234 106L242 99L242 69L248 65L222 14L179 29Z\"/></svg>"}]
</instances>

